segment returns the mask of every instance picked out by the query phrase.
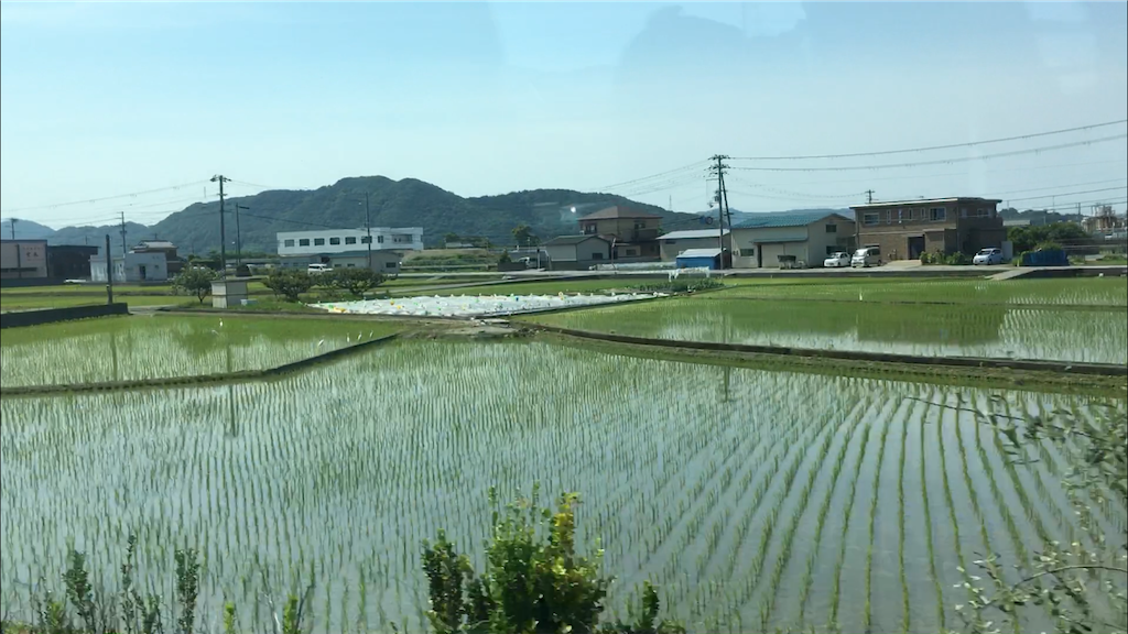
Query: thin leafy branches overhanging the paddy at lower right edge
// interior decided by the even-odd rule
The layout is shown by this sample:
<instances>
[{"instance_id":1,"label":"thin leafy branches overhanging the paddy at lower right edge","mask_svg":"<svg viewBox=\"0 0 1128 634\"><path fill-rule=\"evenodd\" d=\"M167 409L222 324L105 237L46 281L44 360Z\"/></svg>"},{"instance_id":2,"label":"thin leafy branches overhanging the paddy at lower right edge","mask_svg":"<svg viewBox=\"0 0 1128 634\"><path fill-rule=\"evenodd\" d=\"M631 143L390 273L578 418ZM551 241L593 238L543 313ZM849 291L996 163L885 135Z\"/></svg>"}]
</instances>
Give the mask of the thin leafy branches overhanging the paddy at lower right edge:
<instances>
[{"instance_id":1,"label":"thin leafy branches overhanging the paddy at lower right edge","mask_svg":"<svg viewBox=\"0 0 1128 634\"><path fill-rule=\"evenodd\" d=\"M986 583L962 571L972 598L955 606L967 631L1019 632L1022 615L1029 611L1048 614L1057 632L1125 632L1128 527L1121 526L1119 536L1108 535L1094 507L1104 508L1113 500L1128 502L1128 421L1114 407L1093 417L1065 411L1022 419L998 413L1004 408L1005 404L997 402L994 413L976 414L999 433L1012 464L1031 461L1030 451L1048 441L1067 458L1067 464L1074 465L1064 475L1063 485L1084 536L1067 545L1049 541L1034 561L1016 562L1021 574L1017 582L1004 579L997 554L976 560L973 564L987 576Z\"/></svg>"}]
</instances>

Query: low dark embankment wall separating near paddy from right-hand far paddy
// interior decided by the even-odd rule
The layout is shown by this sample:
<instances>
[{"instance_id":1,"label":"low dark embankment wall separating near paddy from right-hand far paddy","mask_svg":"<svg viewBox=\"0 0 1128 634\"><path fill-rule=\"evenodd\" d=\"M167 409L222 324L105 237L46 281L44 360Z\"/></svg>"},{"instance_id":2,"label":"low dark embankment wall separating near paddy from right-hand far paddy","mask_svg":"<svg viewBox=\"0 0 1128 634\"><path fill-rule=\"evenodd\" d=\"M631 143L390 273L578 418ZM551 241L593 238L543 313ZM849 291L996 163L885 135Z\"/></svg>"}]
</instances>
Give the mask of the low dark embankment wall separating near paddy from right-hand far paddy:
<instances>
[{"instance_id":1,"label":"low dark embankment wall separating near paddy from right-hand far paddy","mask_svg":"<svg viewBox=\"0 0 1128 634\"><path fill-rule=\"evenodd\" d=\"M1128 366L1113 363L1079 363L1072 361L1033 361L1019 359L992 359L978 356L917 356L913 354L887 354L883 352L863 352L855 350L817 350L804 347L784 347L775 345L748 345L739 343L717 343L703 341L661 340L635 337L592 331L576 331L558 326L530 324L530 327L594 341L629 343L635 345L654 345L660 347L681 347L690 350L713 350L728 352L750 352L756 354L783 354L821 359L846 359L853 361L875 361L881 363L911 363L917 366L948 366L955 368L997 368L1028 370L1038 372L1064 372L1074 375L1098 375L1103 377L1128 376Z\"/></svg>"}]
</instances>

